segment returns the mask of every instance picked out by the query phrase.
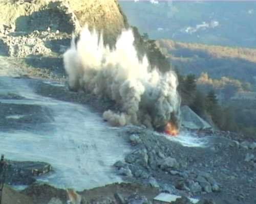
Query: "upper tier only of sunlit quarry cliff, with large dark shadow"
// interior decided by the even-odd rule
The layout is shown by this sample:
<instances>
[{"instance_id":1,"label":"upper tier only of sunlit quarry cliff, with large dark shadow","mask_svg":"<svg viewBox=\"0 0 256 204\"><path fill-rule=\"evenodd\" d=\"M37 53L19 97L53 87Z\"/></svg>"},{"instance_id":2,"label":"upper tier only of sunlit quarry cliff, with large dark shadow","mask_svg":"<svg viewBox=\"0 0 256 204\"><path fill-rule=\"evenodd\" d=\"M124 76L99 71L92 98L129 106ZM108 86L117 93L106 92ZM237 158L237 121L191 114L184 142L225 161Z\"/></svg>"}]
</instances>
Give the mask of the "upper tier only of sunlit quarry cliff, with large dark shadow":
<instances>
[{"instance_id":1,"label":"upper tier only of sunlit quarry cliff, with large dark shadow","mask_svg":"<svg viewBox=\"0 0 256 204\"><path fill-rule=\"evenodd\" d=\"M10 32L28 33L50 28L70 34L88 23L113 39L126 25L115 0L4 0L0 3L0 13L0 24Z\"/></svg>"}]
</instances>

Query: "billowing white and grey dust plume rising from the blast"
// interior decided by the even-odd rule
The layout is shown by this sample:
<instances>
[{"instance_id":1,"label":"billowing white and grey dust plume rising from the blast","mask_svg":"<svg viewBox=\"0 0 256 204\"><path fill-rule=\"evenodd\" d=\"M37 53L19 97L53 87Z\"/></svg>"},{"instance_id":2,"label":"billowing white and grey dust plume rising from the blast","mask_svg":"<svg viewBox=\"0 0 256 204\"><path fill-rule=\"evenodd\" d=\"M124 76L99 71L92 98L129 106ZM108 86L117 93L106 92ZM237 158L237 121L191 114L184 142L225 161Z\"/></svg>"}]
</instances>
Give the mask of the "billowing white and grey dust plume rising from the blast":
<instances>
[{"instance_id":1,"label":"billowing white and grey dust plume rising from the blast","mask_svg":"<svg viewBox=\"0 0 256 204\"><path fill-rule=\"evenodd\" d=\"M146 57L138 59L132 30L124 30L114 49L103 44L102 35L85 27L79 40L72 39L64 54L71 89L83 89L114 100L121 110L103 113L112 125L145 125L159 129L169 121L178 124L180 98L173 71L151 69Z\"/></svg>"}]
</instances>

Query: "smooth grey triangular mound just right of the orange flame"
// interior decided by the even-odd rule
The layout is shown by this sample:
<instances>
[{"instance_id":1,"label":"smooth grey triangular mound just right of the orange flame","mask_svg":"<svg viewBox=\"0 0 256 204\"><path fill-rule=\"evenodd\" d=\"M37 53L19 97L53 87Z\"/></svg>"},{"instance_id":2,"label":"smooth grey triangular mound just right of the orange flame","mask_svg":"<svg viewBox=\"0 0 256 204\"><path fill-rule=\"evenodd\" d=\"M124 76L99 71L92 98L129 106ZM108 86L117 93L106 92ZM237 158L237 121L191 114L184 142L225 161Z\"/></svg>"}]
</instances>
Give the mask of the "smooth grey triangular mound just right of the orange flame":
<instances>
[{"instance_id":1,"label":"smooth grey triangular mound just right of the orange flame","mask_svg":"<svg viewBox=\"0 0 256 204\"><path fill-rule=\"evenodd\" d=\"M181 125L187 129L199 130L199 129L211 129L212 126L199 117L188 106L182 106L181 109Z\"/></svg>"}]
</instances>

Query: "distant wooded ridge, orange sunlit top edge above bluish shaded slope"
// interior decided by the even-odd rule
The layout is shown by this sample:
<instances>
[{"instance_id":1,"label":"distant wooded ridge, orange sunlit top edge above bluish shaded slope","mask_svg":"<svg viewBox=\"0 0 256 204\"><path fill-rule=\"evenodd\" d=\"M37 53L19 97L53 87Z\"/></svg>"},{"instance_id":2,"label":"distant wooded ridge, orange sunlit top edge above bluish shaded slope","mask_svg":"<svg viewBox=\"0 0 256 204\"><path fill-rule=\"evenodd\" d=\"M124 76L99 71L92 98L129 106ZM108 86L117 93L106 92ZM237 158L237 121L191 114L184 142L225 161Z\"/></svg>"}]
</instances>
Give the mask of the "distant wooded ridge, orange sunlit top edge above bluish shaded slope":
<instances>
[{"instance_id":1,"label":"distant wooded ridge, orange sunlit top edge above bluish shaded slope","mask_svg":"<svg viewBox=\"0 0 256 204\"><path fill-rule=\"evenodd\" d=\"M158 40L157 45L180 73L199 77L207 72L211 78L224 76L255 84L256 49L182 43Z\"/></svg>"}]
</instances>

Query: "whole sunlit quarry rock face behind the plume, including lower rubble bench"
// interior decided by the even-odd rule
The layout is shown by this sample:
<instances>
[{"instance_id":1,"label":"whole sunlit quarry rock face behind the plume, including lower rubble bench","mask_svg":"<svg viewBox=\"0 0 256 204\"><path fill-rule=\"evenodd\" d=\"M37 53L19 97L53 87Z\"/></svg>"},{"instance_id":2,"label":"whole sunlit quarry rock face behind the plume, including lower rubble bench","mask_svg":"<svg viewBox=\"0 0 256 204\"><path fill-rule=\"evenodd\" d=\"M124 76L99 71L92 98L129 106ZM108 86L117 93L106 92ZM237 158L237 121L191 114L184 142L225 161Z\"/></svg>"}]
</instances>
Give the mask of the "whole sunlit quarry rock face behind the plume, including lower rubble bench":
<instances>
[{"instance_id":1,"label":"whole sunlit quarry rock face behind the plume, including lower rubble bench","mask_svg":"<svg viewBox=\"0 0 256 204\"><path fill-rule=\"evenodd\" d=\"M0 55L57 56L84 24L103 32L113 44L127 26L115 0L3 0L0 2Z\"/></svg>"}]
</instances>

